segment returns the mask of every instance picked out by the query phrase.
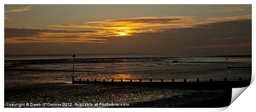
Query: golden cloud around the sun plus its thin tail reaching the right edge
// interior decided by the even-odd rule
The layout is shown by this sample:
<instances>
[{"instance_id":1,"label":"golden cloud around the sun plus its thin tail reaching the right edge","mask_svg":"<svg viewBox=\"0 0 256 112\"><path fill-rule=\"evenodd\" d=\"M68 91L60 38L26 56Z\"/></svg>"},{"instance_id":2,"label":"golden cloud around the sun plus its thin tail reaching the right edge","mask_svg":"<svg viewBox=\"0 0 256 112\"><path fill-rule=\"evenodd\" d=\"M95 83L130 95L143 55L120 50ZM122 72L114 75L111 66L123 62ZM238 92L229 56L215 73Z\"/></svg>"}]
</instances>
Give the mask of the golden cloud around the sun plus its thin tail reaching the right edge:
<instances>
[{"instance_id":1,"label":"golden cloud around the sun plus its thin tail reaching the right edge","mask_svg":"<svg viewBox=\"0 0 256 112\"><path fill-rule=\"evenodd\" d=\"M234 9L233 7L231 9ZM55 28L86 28L99 29L100 37L131 36L133 33L155 32L162 28L191 28L217 21L230 21L234 19L251 19L251 15L232 17L210 17L196 19L192 16L148 16L125 19L109 19L78 24L50 25Z\"/></svg>"}]
</instances>

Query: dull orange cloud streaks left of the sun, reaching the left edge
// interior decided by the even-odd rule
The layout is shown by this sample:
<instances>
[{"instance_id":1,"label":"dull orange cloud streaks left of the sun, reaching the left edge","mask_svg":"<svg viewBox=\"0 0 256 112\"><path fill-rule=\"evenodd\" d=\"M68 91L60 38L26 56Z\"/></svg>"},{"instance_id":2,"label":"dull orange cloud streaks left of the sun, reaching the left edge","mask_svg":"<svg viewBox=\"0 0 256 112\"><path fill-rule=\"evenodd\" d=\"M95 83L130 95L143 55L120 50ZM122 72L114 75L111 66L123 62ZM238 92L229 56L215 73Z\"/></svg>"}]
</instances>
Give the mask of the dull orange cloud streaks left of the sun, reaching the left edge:
<instances>
[{"instance_id":1,"label":"dull orange cloud streaks left of the sun, reaching the left edge","mask_svg":"<svg viewBox=\"0 0 256 112\"><path fill-rule=\"evenodd\" d=\"M5 28L5 44L21 44L30 42L48 43L106 43L104 39L95 39L100 30L56 30L56 29L25 29Z\"/></svg>"}]
</instances>

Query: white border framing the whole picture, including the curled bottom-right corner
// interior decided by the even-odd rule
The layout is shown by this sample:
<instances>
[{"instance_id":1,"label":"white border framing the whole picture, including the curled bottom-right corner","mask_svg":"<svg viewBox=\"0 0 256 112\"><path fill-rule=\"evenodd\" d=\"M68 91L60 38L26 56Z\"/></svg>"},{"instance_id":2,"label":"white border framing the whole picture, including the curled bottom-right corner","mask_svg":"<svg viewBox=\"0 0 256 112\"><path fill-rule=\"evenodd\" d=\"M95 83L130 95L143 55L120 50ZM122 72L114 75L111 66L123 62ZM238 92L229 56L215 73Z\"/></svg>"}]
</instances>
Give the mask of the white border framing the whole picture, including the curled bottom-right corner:
<instances>
[{"instance_id":1,"label":"white border framing the whole picture, including the curled bottom-right corner","mask_svg":"<svg viewBox=\"0 0 256 112\"><path fill-rule=\"evenodd\" d=\"M252 13L252 23L253 23L253 29L255 26L255 16L254 16L254 4L255 4L255 0L1 0L1 16L2 18L4 17L4 4L253 4L253 13ZM2 38L1 38L1 73L2 73L2 77L1 79L1 90L4 90L4 19L2 19L2 27L1 27L1 34L2 34ZM255 39L254 39L254 32L252 34L252 49L255 49ZM255 77L255 53L254 51L252 52L253 55L253 60L252 60L252 67L253 67L253 77ZM254 79L254 78L253 78ZM254 85L254 86L253 86ZM253 86L253 87L252 87ZM225 110L225 111L229 111L229 112L233 112L236 110L240 110L239 112L241 112L242 110L249 110L249 111L254 111L254 105L255 105L255 84L251 84L251 86L249 86L249 90L246 90L245 93L242 93L242 96L240 96L241 98L237 98L237 100L239 101L235 101L231 106L230 109ZM249 93L248 93L249 92ZM252 94L254 93L254 94ZM246 94L246 95L243 95ZM3 110L2 112L6 112L6 111L26 111L26 112L45 112L45 111L62 111L62 112L70 112L70 111L106 111L106 112L112 112L112 111L122 111L122 112L131 112L131 111L149 111L149 112L156 112L156 111L197 111L197 112L209 112L209 111L220 111L220 110L224 110L226 107L223 108L129 108L129 109L122 109L122 108L88 108L86 110L84 110L83 108L57 108L57 109L53 109L53 108L45 108L45 109L37 109L37 108L23 108L23 109L17 109L17 108L3 108L4 106L4 93L1 92L1 102L0 105L2 105L1 110ZM249 99L253 99L250 100L251 102L248 102ZM247 105L251 105L251 106L247 106ZM247 107L246 109L244 107ZM242 109L242 110L241 110Z\"/></svg>"}]
</instances>

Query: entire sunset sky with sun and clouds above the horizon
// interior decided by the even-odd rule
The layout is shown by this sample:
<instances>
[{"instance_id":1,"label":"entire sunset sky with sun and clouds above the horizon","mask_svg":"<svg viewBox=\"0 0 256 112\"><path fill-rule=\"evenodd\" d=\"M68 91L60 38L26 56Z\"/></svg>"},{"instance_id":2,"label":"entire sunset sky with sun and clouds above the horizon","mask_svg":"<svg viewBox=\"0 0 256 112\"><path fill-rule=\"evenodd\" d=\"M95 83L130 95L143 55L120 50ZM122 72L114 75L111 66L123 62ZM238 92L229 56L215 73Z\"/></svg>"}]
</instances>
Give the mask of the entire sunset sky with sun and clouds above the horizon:
<instances>
[{"instance_id":1,"label":"entire sunset sky with sun and clouds above the horizon","mask_svg":"<svg viewBox=\"0 0 256 112\"><path fill-rule=\"evenodd\" d=\"M5 55L250 54L251 5L5 5Z\"/></svg>"}]
</instances>

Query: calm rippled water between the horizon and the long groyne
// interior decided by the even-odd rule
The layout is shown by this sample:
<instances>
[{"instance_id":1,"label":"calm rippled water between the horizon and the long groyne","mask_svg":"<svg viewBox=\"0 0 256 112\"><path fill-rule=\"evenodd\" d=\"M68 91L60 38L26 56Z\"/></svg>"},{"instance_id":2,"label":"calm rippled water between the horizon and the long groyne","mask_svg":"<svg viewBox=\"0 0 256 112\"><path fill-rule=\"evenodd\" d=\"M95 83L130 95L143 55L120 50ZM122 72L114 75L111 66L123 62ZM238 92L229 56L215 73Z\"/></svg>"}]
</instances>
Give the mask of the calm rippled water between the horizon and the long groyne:
<instances>
[{"instance_id":1,"label":"calm rippled water between the horizon and the long groyne","mask_svg":"<svg viewBox=\"0 0 256 112\"><path fill-rule=\"evenodd\" d=\"M251 69L226 69L228 66L251 66L251 56L77 56L75 59L75 80L106 79L110 81L213 81L251 79ZM173 63L173 61L179 61ZM71 56L29 56L5 57L5 85L44 82L71 83L73 69ZM46 71L48 70L48 71ZM54 71L55 70L55 71ZM56 71L59 70L59 71Z\"/></svg>"}]
</instances>

